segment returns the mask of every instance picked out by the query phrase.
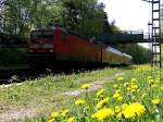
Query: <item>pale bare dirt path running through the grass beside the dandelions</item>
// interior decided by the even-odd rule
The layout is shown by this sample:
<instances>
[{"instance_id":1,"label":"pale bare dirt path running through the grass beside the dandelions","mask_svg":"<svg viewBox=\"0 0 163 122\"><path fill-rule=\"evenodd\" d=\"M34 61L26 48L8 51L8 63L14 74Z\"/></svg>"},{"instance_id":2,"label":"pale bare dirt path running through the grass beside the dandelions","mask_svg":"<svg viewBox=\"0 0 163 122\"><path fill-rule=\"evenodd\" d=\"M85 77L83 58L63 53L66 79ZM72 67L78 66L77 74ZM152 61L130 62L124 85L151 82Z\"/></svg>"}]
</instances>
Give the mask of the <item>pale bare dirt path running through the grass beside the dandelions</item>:
<instances>
[{"instance_id":1,"label":"pale bare dirt path running through the grass beside the dandelions","mask_svg":"<svg viewBox=\"0 0 163 122\"><path fill-rule=\"evenodd\" d=\"M121 72L121 73L115 73L114 75L111 75L111 76L105 76L104 78L101 78L101 80L96 80L93 82L91 82L91 86L92 88L90 88L88 91L95 91L95 90L98 90L99 88L102 87L102 85L104 85L105 82L109 82L109 81L113 81L114 78L116 78L117 76L120 75L124 75L124 72ZM38 83L34 83L34 84L38 84ZM22 84L23 85L23 84ZM9 88L12 88L13 86L10 85ZM14 87L23 87L21 86L21 84L17 84L15 85ZM5 87L7 88L7 87ZM77 96L80 96L80 94L84 94L85 90L80 90L79 88L73 88L73 90L70 90L70 88L67 90L63 90L61 93L55 94L53 95L53 98L58 98L58 96L60 96L60 99L58 98L58 100L54 100L52 103L46 103L46 108L51 108L51 106L59 106L61 102L65 102L65 99L70 99L71 97L77 97ZM61 97L62 96L62 97ZM63 99L61 99L63 98ZM66 101L67 102L67 101ZM1 120L2 121L16 121L16 120L20 120L20 119L24 119L24 118L35 118L37 115L39 115L40 113L42 113L45 109L45 106L38 103L39 106L37 107L33 107L33 108L8 108L5 109L2 108L0 111L0 122ZM61 103L62 105L62 103ZM40 108L43 107L43 108ZM23 121L23 120L22 120Z\"/></svg>"}]
</instances>

